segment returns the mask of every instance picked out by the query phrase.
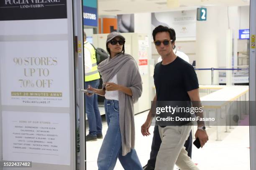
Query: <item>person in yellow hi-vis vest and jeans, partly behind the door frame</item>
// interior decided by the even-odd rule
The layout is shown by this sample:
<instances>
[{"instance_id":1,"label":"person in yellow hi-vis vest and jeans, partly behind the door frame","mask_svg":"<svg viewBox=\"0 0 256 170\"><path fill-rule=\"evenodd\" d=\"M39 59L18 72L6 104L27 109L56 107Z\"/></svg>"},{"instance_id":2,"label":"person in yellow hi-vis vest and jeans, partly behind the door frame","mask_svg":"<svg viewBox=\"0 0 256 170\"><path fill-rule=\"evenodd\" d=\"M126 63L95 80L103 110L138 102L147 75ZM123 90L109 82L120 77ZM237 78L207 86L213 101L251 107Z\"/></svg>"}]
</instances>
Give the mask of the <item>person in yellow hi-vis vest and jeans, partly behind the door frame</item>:
<instances>
[{"instance_id":1,"label":"person in yellow hi-vis vest and jeans, partly behind the door frame","mask_svg":"<svg viewBox=\"0 0 256 170\"><path fill-rule=\"evenodd\" d=\"M86 41L84 32L84 87L92 86L98 88L100 85L100 73L97 69L97 60L95 48ZM97 138L102 138L102 122L98 107L97 95L85 95L85 112L89 122L89 134L86 136L86 141L94 141Z\"/></svg>"}]
</instances>

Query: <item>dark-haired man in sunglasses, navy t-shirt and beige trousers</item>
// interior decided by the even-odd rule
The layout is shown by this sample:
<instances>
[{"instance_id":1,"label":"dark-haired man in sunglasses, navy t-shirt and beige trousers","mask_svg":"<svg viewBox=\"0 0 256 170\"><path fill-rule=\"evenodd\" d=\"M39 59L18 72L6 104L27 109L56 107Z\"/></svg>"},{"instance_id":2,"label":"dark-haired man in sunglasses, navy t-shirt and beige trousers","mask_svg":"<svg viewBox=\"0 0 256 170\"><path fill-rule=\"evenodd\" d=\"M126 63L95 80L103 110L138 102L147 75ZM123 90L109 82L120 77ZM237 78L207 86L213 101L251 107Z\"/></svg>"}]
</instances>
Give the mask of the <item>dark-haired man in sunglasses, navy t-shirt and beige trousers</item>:
<instances>
[{"instance_id":1,"label":"dark-haired man in sunglasses, navy t-shirt and beige trousers","mask_svg":"<svg viewBox=\"0 0 256 170\"><path fill-rule=\"evenodd\" d=\"M154 83L156 96L154 101L200 101L199 85L194 68L188 62L174 54L176 34L172 28L162 25L153 31L156 50L162 57L162 62L155 66ZM166 76L168 74L168 76ZM148 113L146 122L141 126L142 135L150 135L152 110ZM202 117L202 112L196 113ZM204 122L197 122L198 130L195 137L199 138L203 147L208 140ZM189 137L192 126L189 122L180 122L179 126L159 126L161 146L156 157L155 170L173 170L176 164L181 170L198 170L187 155L184 143Z\"/></svg>"}]
</instances>

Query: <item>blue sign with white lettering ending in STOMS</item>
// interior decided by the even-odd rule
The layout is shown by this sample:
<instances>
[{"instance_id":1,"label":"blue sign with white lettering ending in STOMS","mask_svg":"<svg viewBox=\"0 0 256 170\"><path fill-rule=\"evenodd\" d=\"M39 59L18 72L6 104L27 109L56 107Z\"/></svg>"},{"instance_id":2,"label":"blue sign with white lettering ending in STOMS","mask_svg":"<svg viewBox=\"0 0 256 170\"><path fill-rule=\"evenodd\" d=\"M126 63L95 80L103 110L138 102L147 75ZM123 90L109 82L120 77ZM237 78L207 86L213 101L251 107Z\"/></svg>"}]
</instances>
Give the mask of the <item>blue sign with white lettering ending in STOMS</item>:
<instances>
[{"instance_id":1,"label":"blue sign with white lettering ending in STOMS","mask_svg":"<svg viewBox=\"0 0 256 170\"><path fill-rule=\"evenodd\" d=\"M83 18L84 18L84 25L97 27L98 25L97 8L83 6Z\"/></svg>"}]
</instances>

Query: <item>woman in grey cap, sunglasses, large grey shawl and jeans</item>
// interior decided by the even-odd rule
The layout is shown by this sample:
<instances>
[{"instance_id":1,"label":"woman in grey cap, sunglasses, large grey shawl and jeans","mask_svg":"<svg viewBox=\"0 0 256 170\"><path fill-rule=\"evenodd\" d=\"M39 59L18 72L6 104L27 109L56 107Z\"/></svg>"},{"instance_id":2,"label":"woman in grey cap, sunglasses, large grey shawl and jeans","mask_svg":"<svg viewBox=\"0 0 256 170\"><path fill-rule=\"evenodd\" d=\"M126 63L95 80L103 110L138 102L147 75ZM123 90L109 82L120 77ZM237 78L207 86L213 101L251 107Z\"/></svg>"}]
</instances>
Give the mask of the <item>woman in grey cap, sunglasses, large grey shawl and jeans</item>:
<instances>
[{"instance_id":1,"label":"woman in grey cap, sunglasses, large grey shawl and jeans","mask_svg":"<svg viewBox=\"0 0 256 170\"><path fill-rule=\"evenodd\" d=\"M105 115L108 130L100 148L97 165L99 170L113 170L119 159L125 170L142 170L135 143L133 103L142 93L141 75L136 61L125 54L125 38L111 32L106 41L110 56L98 65L102 76L102 89L88 87L105 96Z\"/></svg>"}]
</instances>

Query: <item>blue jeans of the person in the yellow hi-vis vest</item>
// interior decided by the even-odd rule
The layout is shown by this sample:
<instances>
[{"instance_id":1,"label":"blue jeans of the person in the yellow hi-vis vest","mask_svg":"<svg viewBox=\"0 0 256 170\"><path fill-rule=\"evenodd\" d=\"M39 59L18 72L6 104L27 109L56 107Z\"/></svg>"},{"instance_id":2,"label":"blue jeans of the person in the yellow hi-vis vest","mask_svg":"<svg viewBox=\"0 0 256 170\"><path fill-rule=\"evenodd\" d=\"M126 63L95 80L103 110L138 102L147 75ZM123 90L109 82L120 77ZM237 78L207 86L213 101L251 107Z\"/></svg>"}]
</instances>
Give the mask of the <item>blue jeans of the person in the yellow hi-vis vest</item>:
<instances>
[{"instance_id":1,"label":"blue jeans of the person in the yellow hi-vis vest","mask_svg":"<svg viewBox=\"0 0 256 170\"><path fill-rule=\"evenodd\" d=\"M100 79L84 82L85 89L87 89L88 85L93 88L98 88L100 85ZM102 122L97 100L98 96L96 94L90 97L85 95L85 112L87 113L89 135L91 136L102 134Z\"/></svg>"}]
</instances>

